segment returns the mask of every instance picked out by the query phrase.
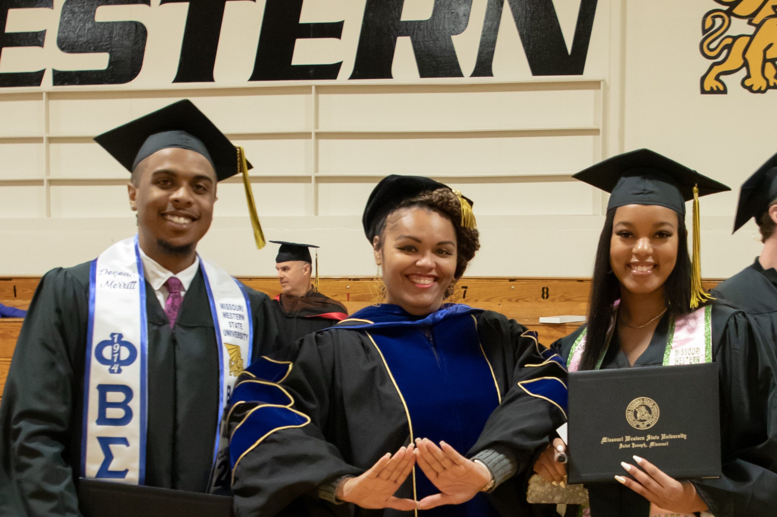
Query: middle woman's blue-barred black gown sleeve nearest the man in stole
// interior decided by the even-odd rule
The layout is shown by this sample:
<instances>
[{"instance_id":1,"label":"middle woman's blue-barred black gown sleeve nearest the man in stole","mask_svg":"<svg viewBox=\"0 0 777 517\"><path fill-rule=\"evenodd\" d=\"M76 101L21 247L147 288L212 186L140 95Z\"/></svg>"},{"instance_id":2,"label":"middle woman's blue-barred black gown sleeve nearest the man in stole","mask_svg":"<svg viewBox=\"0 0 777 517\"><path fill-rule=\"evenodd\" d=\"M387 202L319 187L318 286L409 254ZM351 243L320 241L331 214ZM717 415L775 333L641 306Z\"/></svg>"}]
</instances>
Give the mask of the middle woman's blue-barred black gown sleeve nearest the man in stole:
<instances>
[{"instance_id":1,"label":"middle woman's blue-barred black gown sleeve nearest the man in stole","mask_svg":"<svg viewBox=\"0 0 777 517\"><path fill-rule=\"evenodd\" d=\"M228 424L231 454L241 456L233 462L232 471L237 515L277 515L302 495L309 496L303 504L326 507L321 515L329 515L338 510L317 497L319 486L343 475L361 474L362 470L343 460L322 432L330 415L342 415L344 411L339 404L342 399L336 395L333 340L333 332L326 331L308 335L292 345L291 351L282 354L293 359L286 378L276 378L276 382L259 387L257 391L263 393L257 396L255 392L253 400L246 404L235 403ZM264 361L267 359L260 359L249 368L249 372L256 374L255 380L273 371L272 365L263 364ZM281 372L277 376L283 375ZM249 373L240 381L252 380ZM283 405L288 400L284 391L291 397L291 408L270 408L273 403ZM235 387L235 397L239 401L239 386ZM250 425L248 414L252 410L255 418L260 416L256 415L259 411L267 413L267 418L261 418L262 425ZM241 446L239 442L250 445ZM235 447L239 450L235 451ZM347 505L339 508L341 512L347 511ZM319 515L309 508L306 511Z\"/></svg>"}]
</instances>

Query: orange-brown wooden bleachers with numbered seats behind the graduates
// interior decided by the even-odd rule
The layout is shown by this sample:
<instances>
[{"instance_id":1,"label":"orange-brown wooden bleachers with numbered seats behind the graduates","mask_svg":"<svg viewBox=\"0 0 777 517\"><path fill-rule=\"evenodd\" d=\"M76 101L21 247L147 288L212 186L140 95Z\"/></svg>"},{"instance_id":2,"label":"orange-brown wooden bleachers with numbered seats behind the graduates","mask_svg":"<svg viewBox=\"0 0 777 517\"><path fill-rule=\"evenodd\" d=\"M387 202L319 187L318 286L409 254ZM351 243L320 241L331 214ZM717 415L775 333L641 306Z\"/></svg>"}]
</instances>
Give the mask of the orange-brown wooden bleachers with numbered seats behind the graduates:
<instances>
[{"instance_id":1,"label":"orange-brown wooden bleachers with numbered seats behind the graduates","mask_svg":"<svg viewBox=\"0 0 777 517\"><path fill-rule=\"evenodd\" d=\"M270 297L280 292L274 276L247 276L239 280ZM0 303L26 309L39 281L39 276L0 277ZM719 279L707 279L704 286L712 289L719 282ZM320 290L353 313L374 302L377 284L374 279L364 277L322 278ZM539 317L586 314L590 290L591 279L585 278L466 277L458 283L452 300L514 318L537 331L540 342L549 345L570 334L578 324L540 324ZM5 386L21 328L19 318L0 318L0 387Z\"/></svg>"}]
</instances>

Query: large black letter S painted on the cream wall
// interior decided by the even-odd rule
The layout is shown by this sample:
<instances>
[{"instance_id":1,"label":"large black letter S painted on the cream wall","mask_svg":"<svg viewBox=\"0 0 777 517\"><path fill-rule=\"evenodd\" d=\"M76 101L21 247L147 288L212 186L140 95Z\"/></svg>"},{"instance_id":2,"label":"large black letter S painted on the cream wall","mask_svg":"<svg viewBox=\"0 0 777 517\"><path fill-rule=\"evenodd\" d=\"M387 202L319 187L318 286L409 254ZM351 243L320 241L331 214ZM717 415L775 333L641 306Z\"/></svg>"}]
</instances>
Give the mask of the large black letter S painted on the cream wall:
<instances>
[{"instance_id":1,"label":"large black letter S painted on the cream wall","mask_svg":"<svg viewBox=\"0 0 777 517\"><path fill-rule=\"evenodd\" d=\"M54 86L118 85L138 77L145 55L146 28L140 22L96 22L100 5L151 5L151 0L67 0L57 45L64 52L107 52L105 70L54 70Z\"/></svg>"}]
</instances>

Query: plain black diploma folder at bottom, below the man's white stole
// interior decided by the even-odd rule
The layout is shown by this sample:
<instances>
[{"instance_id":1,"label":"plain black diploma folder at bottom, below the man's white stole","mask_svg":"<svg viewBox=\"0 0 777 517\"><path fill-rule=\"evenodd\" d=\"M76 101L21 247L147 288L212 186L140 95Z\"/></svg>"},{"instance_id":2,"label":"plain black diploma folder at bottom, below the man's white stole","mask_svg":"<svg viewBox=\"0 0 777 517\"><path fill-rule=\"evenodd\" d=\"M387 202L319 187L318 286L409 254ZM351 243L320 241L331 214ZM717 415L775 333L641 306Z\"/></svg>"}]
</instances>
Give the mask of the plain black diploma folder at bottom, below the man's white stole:
<instances>
[{"instance_id":1,"label":"plain black diploma folder at bottom, below the man's white stole","mask_svg":"<svg viewBox=\"0 0 777 517\"><path fill-rule=\"evenodd\" d=\"M85 517L230 517L232 498L82 478L78 505Z\"/></svg>"}]
</instances>

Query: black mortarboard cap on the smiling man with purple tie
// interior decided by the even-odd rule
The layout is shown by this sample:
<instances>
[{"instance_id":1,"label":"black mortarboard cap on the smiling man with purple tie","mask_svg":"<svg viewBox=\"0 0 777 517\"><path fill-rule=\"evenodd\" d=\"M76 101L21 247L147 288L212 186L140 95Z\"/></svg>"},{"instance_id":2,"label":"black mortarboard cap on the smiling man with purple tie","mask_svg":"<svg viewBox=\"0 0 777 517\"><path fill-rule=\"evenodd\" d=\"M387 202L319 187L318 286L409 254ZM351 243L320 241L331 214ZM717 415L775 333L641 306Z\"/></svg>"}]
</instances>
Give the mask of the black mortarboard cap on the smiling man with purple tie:
<instances>
[{"instance_id":1,"label":"black mortarboard cap on the smiling man with purple tie","mask_svg":"<svg viewBox=\"0 0 777 517\"><path fill-rule=\"evenodd\" d=\"M144 158L168 147L202 154L213 165L219 181L239 172L235 145L189 99L107 131L95 141L130 172Z\"/></svg>"}]
</instances>

